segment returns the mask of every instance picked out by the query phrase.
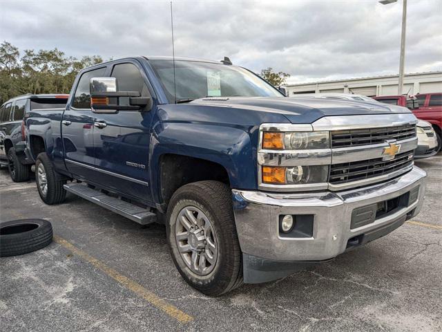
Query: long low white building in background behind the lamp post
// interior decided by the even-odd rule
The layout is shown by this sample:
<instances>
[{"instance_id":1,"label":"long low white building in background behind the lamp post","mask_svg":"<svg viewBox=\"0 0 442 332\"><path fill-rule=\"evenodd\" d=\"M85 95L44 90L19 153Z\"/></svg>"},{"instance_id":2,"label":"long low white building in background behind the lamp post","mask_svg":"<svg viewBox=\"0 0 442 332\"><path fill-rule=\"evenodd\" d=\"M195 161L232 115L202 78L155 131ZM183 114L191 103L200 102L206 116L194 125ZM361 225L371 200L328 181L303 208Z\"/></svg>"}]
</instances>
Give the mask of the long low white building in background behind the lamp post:
<instances>
[{"instance_id":1,"label":"long low white building in background behind the lamp post","mask_svg":"<svg viewBox=\"0 0 442 332\"><path fill-rule=\"evenodd\" d=\"M285 86L290 97L296 93L356 93L358 95L397 95L398 75L350 78ZM405 74L403 93L442 92L442 71Z\"/></svg>"}]
</instances>

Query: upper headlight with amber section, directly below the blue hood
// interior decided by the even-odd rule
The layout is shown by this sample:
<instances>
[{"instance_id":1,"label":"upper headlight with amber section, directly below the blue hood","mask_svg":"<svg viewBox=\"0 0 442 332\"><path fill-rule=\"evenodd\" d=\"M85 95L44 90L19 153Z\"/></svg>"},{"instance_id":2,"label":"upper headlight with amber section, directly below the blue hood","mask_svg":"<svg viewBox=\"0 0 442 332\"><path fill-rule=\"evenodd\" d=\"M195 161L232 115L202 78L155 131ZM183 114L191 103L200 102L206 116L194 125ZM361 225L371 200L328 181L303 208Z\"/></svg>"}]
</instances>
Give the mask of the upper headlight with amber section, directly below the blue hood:
<instances>
[{"instance_id":1,"label":"upper headlight with amber section, directly below the blue hood","mask_svg":"<svg viewBox=\"0 0 442 332\"><path fill-rule=\"evenodd\" d=\"M328 131L265 132L262 149L305 150L329 148Z\"/></svg>"}]
</instances>

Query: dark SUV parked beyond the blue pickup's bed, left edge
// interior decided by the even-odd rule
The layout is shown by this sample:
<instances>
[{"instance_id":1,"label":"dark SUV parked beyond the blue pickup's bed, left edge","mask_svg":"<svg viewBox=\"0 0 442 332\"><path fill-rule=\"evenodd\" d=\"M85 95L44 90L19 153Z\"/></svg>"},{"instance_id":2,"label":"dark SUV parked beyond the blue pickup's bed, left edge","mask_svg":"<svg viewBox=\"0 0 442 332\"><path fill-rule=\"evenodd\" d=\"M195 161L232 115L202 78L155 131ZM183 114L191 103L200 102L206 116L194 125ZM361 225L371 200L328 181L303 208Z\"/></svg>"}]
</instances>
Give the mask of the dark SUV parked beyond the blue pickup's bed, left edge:
<instances>
[{"instance_id":1,"label":"dark SUV parked beyond the blue pickup's bed, left edge","mask_svg":"<svg viewBox=\"0 0 442 332\"><path fill-rule=\"evenodd\" d=\"M63 109L68 95L19 95L0 107L0 165L7 166L12 181L27 181L34 160L26 154L23 119L30 111L60 107Z\"/></svg>"}]
</instances>

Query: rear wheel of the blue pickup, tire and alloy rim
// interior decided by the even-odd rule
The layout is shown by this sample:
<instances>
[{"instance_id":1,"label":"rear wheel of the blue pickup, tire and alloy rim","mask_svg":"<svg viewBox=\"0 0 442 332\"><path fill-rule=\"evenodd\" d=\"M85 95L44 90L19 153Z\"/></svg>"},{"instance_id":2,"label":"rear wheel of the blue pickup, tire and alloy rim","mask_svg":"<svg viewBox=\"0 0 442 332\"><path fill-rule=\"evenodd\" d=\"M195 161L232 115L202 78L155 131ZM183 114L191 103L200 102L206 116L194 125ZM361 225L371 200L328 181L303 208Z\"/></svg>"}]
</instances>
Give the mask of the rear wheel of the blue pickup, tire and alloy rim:
<instances>
[{"instance_id":1,"label":"rear wheel of the blue pickup, tire and alloy rim","mask_svg":"<svg viewBox=\"0 0 442 332\"><path fill-rule=\"evenodd\" d=\"M35 162L35 182L37 183L40 198L44 203L48 205L59 204L63 203L64 199L66 199L66 190L63 187L66 184L66 180L55 172L46 152L41 152L37 156L37 161Z\"/></svg>"}]
</instances>

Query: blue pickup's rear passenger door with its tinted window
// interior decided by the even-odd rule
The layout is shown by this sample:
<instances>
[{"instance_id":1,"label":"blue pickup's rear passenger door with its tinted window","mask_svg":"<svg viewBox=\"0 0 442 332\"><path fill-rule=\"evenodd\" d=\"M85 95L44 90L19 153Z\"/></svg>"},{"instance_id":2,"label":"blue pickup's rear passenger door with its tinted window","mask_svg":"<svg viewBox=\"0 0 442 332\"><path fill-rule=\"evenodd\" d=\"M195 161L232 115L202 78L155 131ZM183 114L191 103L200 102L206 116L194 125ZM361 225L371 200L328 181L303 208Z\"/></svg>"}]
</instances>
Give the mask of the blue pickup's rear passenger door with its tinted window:
<instances>
[{"instance_id":1,"label":"blue pickup's rear passenger door with its tinted window","mask_svg":"<svg viewBox=\"0 0 442 332\"><path fill-rule=\"evenodd\" d=\"M75 94L66 105L61 120L61 137L66 167L69 172L93 180L95 176L95 152L93 144L93 123L95 114L90 109L90 79L102 77L106 66L81 74Z\"/></svg>"}]
</instances>

